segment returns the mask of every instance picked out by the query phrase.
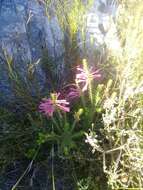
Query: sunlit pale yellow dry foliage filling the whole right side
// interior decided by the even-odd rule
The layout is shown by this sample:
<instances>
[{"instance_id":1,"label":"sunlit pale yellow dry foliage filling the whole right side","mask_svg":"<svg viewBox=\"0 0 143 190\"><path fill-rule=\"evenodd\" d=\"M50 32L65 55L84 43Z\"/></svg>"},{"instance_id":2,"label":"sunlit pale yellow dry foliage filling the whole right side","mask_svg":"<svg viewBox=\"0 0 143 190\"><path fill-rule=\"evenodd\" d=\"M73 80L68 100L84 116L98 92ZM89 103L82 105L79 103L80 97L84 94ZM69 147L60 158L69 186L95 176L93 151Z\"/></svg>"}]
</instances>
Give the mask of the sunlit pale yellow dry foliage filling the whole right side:
<instances>
[{"instance_id":1,"label":"sunlit pale yellow dry foliage filling the whole right side","mask_svg":"<svg viewBox=\"0 0 143 190\"><path fill-rule=\"evenodd\" d=\"M120 1L121 2L121 1ZM108 51L115 80L104 84L101 130L108 143L100 147L93 131L87 142L103 155L111 189L143 189L143 4L122 1L117 17L120 49ZM112 43L112 42L111 42ZM105 65L106 66L106 65ZM109 71L110 72L110 71ZM105 89L105 90L104 90ZM94 137L94 138L93 138ZM110 161L109 161L110 160Z\"/></svg>"}]
</instances>

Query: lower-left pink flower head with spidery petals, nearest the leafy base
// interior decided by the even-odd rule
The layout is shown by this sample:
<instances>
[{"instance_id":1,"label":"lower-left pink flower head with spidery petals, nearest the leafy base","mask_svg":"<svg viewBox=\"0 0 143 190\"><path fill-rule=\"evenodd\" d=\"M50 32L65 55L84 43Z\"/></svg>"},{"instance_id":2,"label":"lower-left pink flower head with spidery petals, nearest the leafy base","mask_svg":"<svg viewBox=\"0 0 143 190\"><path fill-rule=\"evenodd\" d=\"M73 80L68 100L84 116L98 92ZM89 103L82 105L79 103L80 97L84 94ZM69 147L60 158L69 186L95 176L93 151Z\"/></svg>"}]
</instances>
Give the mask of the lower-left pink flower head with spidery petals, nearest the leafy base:
<instances>
[{"instance_id":1,"label":"lower-left pink flower head with spidery petals, nearest the leafy base","mask_svg":"<svg viewBox=\"0 0 143 190\"><path fill-rule=\"evenodd\" d=\"M65 99L58 99L59 96L60 93L52 93L51 98L43 99L39 105L39 112L42 112L49 117L53 116L53 113L56 109L69 112L69 102L67 102Z\"/></svg>"}]
</instances>

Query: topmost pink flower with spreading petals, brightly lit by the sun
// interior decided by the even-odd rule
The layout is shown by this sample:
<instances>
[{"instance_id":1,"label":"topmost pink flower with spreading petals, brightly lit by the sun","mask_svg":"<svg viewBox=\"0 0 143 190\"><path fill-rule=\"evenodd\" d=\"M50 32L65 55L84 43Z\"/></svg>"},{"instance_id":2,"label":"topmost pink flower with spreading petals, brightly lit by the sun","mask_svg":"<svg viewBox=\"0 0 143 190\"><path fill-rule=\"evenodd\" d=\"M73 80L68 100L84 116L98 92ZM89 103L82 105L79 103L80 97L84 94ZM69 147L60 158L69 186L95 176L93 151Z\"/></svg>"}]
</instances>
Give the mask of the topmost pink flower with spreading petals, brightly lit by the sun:
<instances>
[{"instance_id":1,"label":"topmost pink flower with spreading petals, brightly lit by the sun","mask_svg":"<svg viewBox=\"0 0 143 190\"><path fill-rule=\"evenodd\" d=\"M76 74L76 84L82 85L82 91L86 91L88 88L88 85L93 79L99 79L101 78L101 74L98 70L94 70L93 68L90 68L89 70L82 67L77 67L77 74Z\"/></svg>"}]
</instances>

